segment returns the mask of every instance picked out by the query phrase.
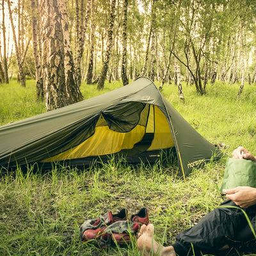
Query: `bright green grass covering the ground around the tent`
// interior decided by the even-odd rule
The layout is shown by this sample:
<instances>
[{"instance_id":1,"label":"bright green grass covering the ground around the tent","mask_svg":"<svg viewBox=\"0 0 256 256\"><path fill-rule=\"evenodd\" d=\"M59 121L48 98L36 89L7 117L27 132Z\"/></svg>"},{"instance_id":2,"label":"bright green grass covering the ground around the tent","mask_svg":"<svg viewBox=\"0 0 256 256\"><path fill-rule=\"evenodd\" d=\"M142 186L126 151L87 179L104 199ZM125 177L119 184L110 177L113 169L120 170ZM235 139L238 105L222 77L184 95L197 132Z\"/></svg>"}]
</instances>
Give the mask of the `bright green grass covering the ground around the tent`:
<instances>
[{"instance_id":1,"label":"bright green grass covering the ground around the tent","mask_svg":"<svg viewBox=\"0 0 256 256\"><path fill-rule=\"evenodd\" d=\"M86 99L122 86L105 84L101 92L95 85L83 84ZM158 84L157 84L158 86ZM207 140L232 150L243 145L255 154L255 85L244 86L236 100L239 84L209 84L204 96L195 88L183 86L185 102L177 87L164 86L163 94L184 118ZM0 84L0 124L4 125L44 111L36 100L35 81L26 88L16 81ZM126 208L129 214L147 207L155 238L172 244L175 235L192 227L219 205L220 183L225 159L194 170L186 183L179 179L177 163L130 166L109 161L89 170L36 167L0 175L0 255L140 255L136 241L127 248L113 247L107 252L79 241L79 226L111 210Z\"/></svg>"}]
</instances>

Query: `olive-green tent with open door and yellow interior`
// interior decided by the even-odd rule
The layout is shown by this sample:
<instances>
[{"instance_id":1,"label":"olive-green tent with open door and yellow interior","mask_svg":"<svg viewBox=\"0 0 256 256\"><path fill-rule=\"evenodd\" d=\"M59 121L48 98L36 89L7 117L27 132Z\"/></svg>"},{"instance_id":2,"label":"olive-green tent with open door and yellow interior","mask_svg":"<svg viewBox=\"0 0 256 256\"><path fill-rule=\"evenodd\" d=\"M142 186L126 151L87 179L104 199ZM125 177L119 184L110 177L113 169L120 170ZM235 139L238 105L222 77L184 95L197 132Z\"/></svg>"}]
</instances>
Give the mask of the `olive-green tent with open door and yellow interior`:
<instances>
[{"instance_id":1,"label":"olive-green tent with open door and yellow interior","mask_svg":"<svg viewBox=\"0 0 256 256\"><path fill-rule=\"evenodd\" d=\"M0 166L90 164L118 154L155 162L175 150L184 178L222 156L172 107L147 77L97 97L0 127Z\"/></svg>"}]
</instances>

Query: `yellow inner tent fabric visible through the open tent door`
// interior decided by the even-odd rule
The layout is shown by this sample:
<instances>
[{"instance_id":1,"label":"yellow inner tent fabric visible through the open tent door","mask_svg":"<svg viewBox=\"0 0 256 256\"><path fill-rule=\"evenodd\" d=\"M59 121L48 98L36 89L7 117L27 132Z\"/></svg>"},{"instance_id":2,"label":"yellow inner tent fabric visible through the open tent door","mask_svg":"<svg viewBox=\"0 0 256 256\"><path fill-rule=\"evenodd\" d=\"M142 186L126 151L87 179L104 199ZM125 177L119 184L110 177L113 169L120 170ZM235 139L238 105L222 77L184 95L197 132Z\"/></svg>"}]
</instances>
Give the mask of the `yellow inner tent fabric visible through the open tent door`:
<instances>
[{"instance_id":1,"label":"yellow inner tent fabric visible through the open tent door","mask_svg":"<svg viewBox=\"0 0 256 256\"><path fill-rule=\"evenodd\" d=\"M70 148L42 162L63 161L90 156L104 156L127 150L139 143L145 134L154 134L147 151L174 147L166 116L159 108L146 105L140 114L140 122L129 132L116 132L109 129L104 117L100 115L95 132L90 138L76 147Z\"/></svg>"}]
</instances>

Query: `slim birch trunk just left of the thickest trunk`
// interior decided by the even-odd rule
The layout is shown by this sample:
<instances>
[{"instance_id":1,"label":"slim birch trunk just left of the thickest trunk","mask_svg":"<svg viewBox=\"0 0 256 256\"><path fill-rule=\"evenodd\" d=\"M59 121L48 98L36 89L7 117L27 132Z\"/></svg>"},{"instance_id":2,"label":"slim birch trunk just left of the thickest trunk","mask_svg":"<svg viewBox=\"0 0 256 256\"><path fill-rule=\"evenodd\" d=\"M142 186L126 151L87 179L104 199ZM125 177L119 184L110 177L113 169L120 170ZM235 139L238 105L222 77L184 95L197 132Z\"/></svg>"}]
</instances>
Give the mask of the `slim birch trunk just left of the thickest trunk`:
<instances>
[{"instance_id":1,"label":"slim birch trunk just left of the thickest trunk","mask_svg":"<svg viewBox=\"0 0 256 256\"><path fill-rule=\"evenodd\" d=\"M38 17L38 3L35 0L30 0L32 10L32 42L33 42L33 54L35 59L35 73L36 73L36 95L38 99L44 98L44 84L42 77L42 63L40 61L38 52L38 33L37 33L37 19Z\"/></svg>"}]
</instances>

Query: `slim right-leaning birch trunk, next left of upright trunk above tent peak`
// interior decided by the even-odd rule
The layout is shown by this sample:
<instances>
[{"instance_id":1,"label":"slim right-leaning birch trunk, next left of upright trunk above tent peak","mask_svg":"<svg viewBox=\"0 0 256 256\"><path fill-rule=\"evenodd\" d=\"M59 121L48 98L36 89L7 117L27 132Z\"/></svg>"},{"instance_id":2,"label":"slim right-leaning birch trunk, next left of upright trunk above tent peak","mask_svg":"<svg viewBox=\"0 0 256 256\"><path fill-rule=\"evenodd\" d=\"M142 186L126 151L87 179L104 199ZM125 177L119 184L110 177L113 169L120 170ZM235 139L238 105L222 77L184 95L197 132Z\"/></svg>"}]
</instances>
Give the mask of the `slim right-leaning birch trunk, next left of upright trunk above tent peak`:
<instances>
[{"instance_id":1,"label":"slim right-leaning birch trunk, next left of upright trunk above tent peak","mask_svg":"<svg viewBox=\"0 0 256 256\"><path fill-rule=\"evenodd\" d=\"M109 19L109 28L108 28L108 46L106 49L106 55L105 55L105 60L102 67L102 72L100 74L99 82L97 85L98 90L103 90L104 88L104 83L105 83L105 79L106 79L108 67L109 67L111 49L113 47L113 27L115 22L115 5L116 5L116 0L112 0L110 19Z\"/></svg>"}]
</instances>

